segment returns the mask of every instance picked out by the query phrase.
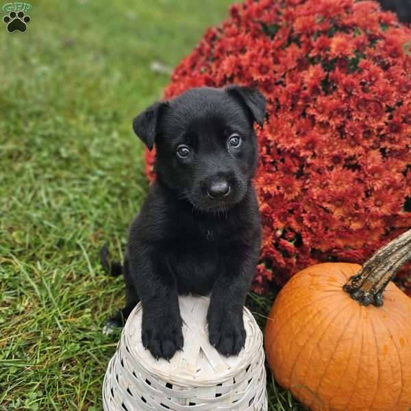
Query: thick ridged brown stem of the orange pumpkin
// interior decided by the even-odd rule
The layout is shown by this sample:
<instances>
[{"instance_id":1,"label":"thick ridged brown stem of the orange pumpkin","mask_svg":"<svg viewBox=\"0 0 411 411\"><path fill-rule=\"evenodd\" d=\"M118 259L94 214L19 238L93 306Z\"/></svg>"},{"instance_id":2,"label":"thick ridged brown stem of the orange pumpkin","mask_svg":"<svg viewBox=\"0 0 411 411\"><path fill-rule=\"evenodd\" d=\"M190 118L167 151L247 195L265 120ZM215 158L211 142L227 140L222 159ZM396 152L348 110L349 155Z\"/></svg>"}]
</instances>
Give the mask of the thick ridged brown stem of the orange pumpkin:
<instances>
[{"instance_id":1,"label":"thick ridged brown stem of the orange pumpkin","mask_svg":"<svg viewBox=\"0 0 411 411\"><path fill-rule=\"evenodd\" d=\"M367 260L343 289L361 306L384 304L384 290L401 267L411 260L411 229L388 242Z\"/></svg>"}]
</instances>

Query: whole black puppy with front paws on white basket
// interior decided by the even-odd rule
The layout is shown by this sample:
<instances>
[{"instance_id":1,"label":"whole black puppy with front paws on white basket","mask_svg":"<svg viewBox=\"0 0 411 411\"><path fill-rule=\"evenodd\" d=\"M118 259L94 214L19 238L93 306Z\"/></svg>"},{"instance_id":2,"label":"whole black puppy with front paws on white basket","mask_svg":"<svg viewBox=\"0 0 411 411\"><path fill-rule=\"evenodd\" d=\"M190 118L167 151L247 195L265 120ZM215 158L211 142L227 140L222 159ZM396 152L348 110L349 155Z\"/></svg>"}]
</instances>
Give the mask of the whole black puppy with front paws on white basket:
<instances>
[{"instance_id":1,"label":"whole black puppy with front paws on white basket","mask_svg":"<svg viewBox=\"0 0 411 411\"><path fill-rule=\"evenodd\" d=\"M260 251L253 123L262 125L265 107L252 88L192 88L134 119L134 132L155 144L156 177L129 229L127 305L107 325L123 325L141 299L142 343L155 358L182 349L177 295L188 292L211 292L208 331L219 352L244 346L242 308Z\"/></svg>"}]
</instances>

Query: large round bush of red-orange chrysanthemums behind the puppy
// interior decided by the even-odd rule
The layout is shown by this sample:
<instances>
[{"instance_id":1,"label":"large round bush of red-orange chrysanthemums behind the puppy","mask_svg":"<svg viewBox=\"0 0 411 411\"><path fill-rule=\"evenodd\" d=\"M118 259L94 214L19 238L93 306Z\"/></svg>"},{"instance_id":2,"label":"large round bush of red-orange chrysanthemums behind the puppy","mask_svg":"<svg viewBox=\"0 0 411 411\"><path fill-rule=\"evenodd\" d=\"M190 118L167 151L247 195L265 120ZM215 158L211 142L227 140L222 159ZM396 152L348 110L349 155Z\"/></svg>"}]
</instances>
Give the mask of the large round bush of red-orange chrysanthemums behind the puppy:
<instances>
[{"instance_id":1,"label":"large round bush of red-orange chrysanthemums behind the puppy","mask_svg":"<svg viewBox=\"0 0 411 411\"><path fill-rule=\"evenodd\" d=\"M256 86L264 238L254 290L362 263L411 227L411 29L374 1L247 0L177 66L190 87ZM147 153L151 173L153 153ZM399 275L411 292L411 270Z\"/></svg>"}]
</instances>

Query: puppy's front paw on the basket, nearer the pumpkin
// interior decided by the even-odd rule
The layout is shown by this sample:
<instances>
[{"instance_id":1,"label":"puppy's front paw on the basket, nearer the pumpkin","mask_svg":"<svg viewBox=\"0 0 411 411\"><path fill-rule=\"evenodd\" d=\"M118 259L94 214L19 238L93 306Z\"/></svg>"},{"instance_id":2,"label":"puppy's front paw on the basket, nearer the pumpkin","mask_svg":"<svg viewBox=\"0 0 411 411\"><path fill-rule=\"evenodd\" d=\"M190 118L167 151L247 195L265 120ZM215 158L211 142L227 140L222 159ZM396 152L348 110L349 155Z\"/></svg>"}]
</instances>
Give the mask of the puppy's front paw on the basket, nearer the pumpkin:
<instances>
[{"instance_id":1,"label":"puppy's front paw on the basket, nearer the pumpkin","mask_svg":"<svg viewBox=\"0 0 411 411\"><path fill-rule=\"evenodd\" d=\"M245 345L245 337L242 319L221 319L208 323L210 344L223 356L238 356Z\"/></svg>"}]
</instances>

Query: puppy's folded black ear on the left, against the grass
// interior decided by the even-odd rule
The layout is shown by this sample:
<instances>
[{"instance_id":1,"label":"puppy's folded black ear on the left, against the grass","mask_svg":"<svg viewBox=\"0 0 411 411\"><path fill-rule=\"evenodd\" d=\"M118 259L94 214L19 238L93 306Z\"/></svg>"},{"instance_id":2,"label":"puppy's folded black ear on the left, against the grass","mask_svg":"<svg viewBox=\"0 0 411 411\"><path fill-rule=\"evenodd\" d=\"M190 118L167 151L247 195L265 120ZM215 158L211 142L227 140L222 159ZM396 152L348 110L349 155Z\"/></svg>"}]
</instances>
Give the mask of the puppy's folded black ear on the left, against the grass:
<instances>
[{"instance_id":1,"label":"puppy's folded black ear on the left, against the grass","mask_svg":"<svg viewBox=\"0 0 411 411\"><path fill-rule=\"evenodd\" d=\"M138 114L133 120L134 133L137 134L150 151L153 149L155 137L157 136L160 114L168 106L168 101L157 101Z\"/></svg>"}]
</instances>

